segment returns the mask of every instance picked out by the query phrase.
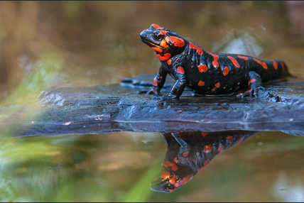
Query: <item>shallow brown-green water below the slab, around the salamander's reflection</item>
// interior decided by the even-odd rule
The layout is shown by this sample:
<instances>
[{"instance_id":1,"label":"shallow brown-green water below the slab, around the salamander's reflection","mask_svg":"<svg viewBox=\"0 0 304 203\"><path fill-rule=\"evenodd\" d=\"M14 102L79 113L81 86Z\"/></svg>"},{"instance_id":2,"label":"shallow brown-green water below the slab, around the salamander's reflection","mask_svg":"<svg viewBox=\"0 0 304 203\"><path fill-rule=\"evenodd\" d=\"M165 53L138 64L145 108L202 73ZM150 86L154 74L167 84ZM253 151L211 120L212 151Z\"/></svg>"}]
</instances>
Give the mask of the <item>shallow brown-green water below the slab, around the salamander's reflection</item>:
<instances>
[{"instance_id":1,"label":"shallow brown-green water below the slab, around the salamander's reflection","mask_svg":"<svg viewBox=\"0 0 304 203\"><path fill-rule=\"evenodd\" d=\"M149 189L166 152L158 133L17 139L1 146L1 200L303 201L303 137L258 133L171 194Z\"/></svg>"}]
</instances>

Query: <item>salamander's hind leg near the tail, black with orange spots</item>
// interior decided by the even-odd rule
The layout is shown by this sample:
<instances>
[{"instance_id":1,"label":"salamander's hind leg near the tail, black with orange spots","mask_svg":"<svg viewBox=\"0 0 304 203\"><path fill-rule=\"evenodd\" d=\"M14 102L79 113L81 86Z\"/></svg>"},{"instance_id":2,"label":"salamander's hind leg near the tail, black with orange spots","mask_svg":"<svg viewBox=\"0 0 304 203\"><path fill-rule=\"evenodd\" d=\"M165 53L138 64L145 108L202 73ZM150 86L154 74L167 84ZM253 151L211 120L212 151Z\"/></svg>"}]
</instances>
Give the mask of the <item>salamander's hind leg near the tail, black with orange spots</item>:
<instances>
[{"instance_id":1,"label":"salamander's hind leg near the tail, black with orange spots","mask_svg":"<svg viewBox=\"0 0 304 203\"><path fill-rule=\"evenodd\" d=\"M244 93L237 94L237 97L244 98L246 96L258 97L259 91L264 91L265 88L261 86L261 76L254 71L250 71L246 75L248 89Z\"/></svg>"}]
</instances>

